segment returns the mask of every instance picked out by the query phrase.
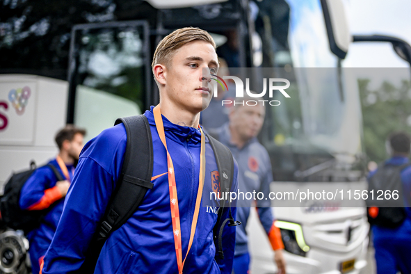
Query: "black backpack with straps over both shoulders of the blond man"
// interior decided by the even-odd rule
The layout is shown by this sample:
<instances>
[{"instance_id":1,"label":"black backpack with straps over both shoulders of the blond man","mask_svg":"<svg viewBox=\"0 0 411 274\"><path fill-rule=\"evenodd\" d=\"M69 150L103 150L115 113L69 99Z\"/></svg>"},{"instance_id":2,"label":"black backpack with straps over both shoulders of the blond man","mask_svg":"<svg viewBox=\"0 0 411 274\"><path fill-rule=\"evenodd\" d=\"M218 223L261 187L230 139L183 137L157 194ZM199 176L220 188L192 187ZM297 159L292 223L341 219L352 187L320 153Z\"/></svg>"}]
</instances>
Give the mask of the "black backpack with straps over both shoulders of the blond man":
<instances>
[{"instance_id":1,"label":"black backpack with straps over both shoulders of the blond man","mask_svg":"<svg viewBox=\"0 0 411 274\"><path fill-rule=\"evenodd\" d=\"M118 179L110 202L108 202L102 223L90 243L80 273L94 273L95 264L108 236L126 223L138 209L147 190L153 187L151 182L153 168L152 134L147 118L145 115L136 115L115 121L115 124L120 123L124 124L127 132L127 147L124 154L122 175ZM220 174L220 191L230 191L232 178L234 177L232 154L225 145L211 136L207 137L216 157ZM134 155L138 155L138 157L131 158ZM218 240L218 256L224 259L222 237L225 224L228 222L229 226L235 226L241 223L234 220L231 207L229 207L229 218L222 222L223 209L221 208L227 206L225 200L220 202L222 204L218 211L217 223L213 228L213 235L214 240Z\"/></svg>"}]
</instances>

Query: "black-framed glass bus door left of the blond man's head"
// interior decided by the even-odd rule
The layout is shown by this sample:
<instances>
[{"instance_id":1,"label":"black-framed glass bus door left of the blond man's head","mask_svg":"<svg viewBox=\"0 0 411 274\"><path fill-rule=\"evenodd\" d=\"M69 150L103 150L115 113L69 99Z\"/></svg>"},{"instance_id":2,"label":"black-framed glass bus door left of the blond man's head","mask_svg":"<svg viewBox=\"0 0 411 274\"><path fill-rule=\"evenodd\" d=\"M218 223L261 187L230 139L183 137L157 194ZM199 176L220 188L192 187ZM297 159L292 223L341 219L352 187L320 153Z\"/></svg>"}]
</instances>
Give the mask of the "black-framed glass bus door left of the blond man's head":
<instances>
[{"instance_id":1,"label":"black-framed glass bus door left of the blond man's head","mask_svg":"<svg viewBox=\"0 0 411 274\"><path fill-rule=\"evenodd\" d=\"M86 128L88 140L150 106L149 38L143 20L73 27L67 123Z\"/></svg>"}]
</instances>

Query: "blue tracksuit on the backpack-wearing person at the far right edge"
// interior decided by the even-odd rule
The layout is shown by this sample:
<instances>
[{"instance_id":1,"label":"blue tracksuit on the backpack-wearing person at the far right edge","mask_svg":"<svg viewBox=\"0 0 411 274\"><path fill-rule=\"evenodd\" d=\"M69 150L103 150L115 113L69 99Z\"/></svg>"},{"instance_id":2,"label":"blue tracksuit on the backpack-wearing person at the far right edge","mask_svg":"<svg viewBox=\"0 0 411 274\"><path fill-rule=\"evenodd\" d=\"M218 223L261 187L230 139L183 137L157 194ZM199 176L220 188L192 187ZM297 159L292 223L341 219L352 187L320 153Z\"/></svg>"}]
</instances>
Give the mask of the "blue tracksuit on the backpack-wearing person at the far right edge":
<instances>
[{"instance_id":1,"label":"blue tracksuit on the backpack-wearing person at the far right edge","mask_svg":"<svg viewBox=\"0 0 411 274\"><path fill-rule=\"evenodd\" d=\"M407 162L408 158L400 156L394 156L386 161L387 164L394 166L401 166ZM376 171L371 172L369 177L375 173ZM378 274L396 274L400 270L403 274L411 274L411 166L401 171L401 180L407 218L394 229L376 225L372 227Z\"/></svg>"}]
</instances>

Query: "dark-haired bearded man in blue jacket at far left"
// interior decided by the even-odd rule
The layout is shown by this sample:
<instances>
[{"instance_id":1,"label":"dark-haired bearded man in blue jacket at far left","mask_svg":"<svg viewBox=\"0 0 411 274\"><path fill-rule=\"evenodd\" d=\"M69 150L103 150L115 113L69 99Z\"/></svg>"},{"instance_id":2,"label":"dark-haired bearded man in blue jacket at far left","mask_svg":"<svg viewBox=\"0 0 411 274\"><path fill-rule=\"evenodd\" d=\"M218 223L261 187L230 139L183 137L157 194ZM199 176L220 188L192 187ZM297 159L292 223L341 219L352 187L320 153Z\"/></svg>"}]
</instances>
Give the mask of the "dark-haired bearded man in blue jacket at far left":
<instances>
[{"instance_id":1,"label":"dark-haired bearded man in blue jacket at far left","mask_svg":"<svg viewBox=\"0 0 411 274\"><path fill-rule=\"evenodd\" d=\"M48 166L38 168L24 184L20 193L19 205L24 210L49 209L42 218L40 226L31 230L27 235L30 242L30 259L33 273L39 273L40 264L46 254L47 248L53 239L58 220L63 211L64 197L67 194L74 174L74 162L79 159L83 148L84 129L79 129L71 124L58 131L56 144L58 155L49 161L50 165L61 172L65 180L58 181L53 170Z\"/></svg>"}]
</instances>

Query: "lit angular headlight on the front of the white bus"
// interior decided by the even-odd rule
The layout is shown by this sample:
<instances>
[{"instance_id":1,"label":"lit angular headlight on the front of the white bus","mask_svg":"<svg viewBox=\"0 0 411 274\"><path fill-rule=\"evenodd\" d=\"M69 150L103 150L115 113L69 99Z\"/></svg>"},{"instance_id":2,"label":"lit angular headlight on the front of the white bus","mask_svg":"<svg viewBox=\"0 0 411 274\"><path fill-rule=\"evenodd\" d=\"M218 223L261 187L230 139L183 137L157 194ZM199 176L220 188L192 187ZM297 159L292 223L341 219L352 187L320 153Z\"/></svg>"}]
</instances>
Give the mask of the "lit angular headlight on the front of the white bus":
<instances>
[{"instance_id":1,"label":"lit angular headlight on the front of the white bus","mask_svg":"<svg viewBox=\"0 0 411 274\"><path fill-rule=\"evenodd\" d=\"M304 241L303 229L297 223L276 220L274 225L280 228L284 249L295 255L305 257L309 246Z\"/></svg>"}]
</instances>

